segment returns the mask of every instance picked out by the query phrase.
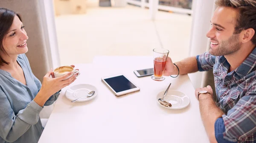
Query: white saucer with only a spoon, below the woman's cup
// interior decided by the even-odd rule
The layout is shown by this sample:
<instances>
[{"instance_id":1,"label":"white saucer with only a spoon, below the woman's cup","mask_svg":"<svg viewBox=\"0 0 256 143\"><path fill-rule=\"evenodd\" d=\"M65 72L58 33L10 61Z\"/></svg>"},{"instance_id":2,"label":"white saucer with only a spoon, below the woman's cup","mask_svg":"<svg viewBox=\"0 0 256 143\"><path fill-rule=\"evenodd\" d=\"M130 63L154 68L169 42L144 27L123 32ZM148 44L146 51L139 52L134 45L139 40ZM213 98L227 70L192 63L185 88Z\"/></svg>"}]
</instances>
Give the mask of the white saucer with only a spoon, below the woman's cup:
<instances>
[{"instance_id":1,"label":"white saucer with only a spoon, below the woman's cup","mask_svg":"<svg viewBox=\"0 0 256 143\"><path fill-rule=\"evenodd\" d=\"M85 96L93 90L95 91L93 96L91 97ZM68 88L65 92L66 97L70 101L76 100L77 98L84 96L84 98L81 98L76 102L84 102L84 101L91 100L95 98L97 94L98 94L98 90L96 89L96 87L90 84L77 84Z\"/></svg>"}]
</instances>

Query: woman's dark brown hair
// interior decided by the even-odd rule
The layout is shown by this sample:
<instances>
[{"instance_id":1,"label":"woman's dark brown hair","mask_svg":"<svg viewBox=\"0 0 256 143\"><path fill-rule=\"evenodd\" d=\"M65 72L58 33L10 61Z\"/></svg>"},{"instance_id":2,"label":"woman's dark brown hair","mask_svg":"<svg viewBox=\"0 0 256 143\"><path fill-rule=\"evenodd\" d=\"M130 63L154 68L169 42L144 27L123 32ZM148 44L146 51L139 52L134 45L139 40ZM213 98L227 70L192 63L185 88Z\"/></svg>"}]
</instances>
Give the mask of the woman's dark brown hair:
<instances>
[{"instance_id":1,"label":"woman's dark brown hair","mask_svg":"<svg viewBox=\"0 0 256 143\"><path fill-rule=\"evenodd\" d=\"M3 39L10 30L15 16L19 17L20 21L22 22L20 15L15 11L0 8L0 53L4 53L6 55L7 53L3 49ZM3 66L3 64L9 63L6 62L0 55L0 66Z\"/></svg>"}]
</instances>

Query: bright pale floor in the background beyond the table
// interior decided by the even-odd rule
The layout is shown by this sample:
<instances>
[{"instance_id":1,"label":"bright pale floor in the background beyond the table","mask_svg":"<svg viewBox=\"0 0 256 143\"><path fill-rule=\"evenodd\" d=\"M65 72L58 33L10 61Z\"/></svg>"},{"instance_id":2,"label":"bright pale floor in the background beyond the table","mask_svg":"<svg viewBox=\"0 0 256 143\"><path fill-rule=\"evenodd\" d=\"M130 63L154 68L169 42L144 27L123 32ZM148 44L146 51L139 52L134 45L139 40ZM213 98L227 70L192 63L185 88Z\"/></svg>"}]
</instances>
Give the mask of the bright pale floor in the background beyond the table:
<instances>
[{"instance_id":1,"label":"bright pale floor in the background beyond the table","mask_svg":"<svg viewBox=\"0 0 256 143\"><path fill-rule=\"evenodd\" d=\"M151 56L161 47L170 50L173 62L188 56L189 15L159 11L153 22L148 9L128 5L89 8L55 20L61 65L90 63L99 55Z\"/></svg>"}]
</instances>

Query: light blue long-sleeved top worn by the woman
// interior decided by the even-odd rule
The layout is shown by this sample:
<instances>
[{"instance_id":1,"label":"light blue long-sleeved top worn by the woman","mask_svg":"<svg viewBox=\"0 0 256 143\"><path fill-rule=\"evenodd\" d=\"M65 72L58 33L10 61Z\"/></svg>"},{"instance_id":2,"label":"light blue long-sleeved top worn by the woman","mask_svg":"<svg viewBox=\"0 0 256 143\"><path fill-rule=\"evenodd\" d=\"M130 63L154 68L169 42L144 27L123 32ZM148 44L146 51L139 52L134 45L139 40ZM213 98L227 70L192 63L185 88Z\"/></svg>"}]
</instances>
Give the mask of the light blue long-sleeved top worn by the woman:
<instances>
[{"instance_id":1,"label":"light blue long-sleeved top worn by the woman","mask_svg":"<svg viewBox=\"0 0 256 143\"><path fill-rule=\"evenodd\" d=\"M25 54L17 62L23 69L26 85L14 79L9 72L0 70L0 143L37 143L44 128L39 113L44 107L33 100L41 88ZM60 91L59 91L60 92ZM52 104L58 93L44 104Z\"/></svg>"}]
</instances>

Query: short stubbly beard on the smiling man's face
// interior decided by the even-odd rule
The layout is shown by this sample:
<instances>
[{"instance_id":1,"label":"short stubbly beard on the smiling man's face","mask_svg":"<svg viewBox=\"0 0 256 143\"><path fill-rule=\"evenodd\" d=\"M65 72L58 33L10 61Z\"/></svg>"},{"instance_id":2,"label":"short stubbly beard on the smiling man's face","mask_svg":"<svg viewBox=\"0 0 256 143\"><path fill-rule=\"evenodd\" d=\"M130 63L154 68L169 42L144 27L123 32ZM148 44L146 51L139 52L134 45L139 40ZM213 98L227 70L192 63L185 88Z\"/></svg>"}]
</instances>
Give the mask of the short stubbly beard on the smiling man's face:
<instances>
[{"instance_id":1,"label":"short stubbly beard on the smiling man's face","mask_svg":"<svg viewBox=\"0 0 256 143\"><path fill-rule=\"evenodd\" d=\"M213 41L217 41L211 39ZM225 56L235 53L241 48L241 43L239 42L239 34L233 34L229 39L226 41L219 42L218 48L212 50L210 48L209 53L213 56Z\"/></svg>"}]
</instances>

